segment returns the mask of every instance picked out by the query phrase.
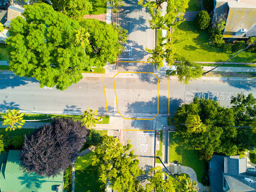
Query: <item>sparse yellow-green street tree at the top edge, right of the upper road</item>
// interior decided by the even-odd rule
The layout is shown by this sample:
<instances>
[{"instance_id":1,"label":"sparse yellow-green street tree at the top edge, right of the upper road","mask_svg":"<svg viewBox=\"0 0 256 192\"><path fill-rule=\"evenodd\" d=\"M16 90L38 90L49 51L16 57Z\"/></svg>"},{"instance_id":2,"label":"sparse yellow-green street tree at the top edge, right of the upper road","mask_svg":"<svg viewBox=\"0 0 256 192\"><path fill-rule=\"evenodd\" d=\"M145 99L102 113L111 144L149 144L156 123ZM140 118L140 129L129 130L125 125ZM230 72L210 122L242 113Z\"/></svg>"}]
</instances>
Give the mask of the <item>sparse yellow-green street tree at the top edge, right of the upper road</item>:
<instances>
[{"instance_id":1,"label":"sparse yellow-green street tree at the top edge, right of the upper road","mask_svg":"<svg viewBox=\"0 0 256 192\"><path fill-rule=\"evenodd\" d=\"M164 16L161 15L163 11L159 9L163 2L167 2L167 10ZM140 0L138 4L148 7L148 12L152 17L149 20L149 25L152 29L162 28L170 30L171 26L179 25L183 22L185 9L188 8L188 0L160 0L157 2L150 0L145 0L144 2L144 0Z\"/></svg>"}]
</instances>

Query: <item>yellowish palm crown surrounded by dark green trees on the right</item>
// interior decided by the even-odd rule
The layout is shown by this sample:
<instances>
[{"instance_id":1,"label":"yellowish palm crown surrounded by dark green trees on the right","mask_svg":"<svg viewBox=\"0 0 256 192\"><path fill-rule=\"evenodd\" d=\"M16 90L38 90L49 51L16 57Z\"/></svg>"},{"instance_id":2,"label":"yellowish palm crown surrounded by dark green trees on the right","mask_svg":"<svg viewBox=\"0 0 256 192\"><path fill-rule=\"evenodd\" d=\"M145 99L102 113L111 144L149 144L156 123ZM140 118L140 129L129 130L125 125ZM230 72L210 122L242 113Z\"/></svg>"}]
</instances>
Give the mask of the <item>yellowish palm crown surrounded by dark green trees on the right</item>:
<instances>
[{"instance_id":1,"label":"yellowish palm crown surrounded by dark green trees on the right","mask_svg":"<svg viewBox=\"0 0 256 192\"><path fill-rule=\"evenodd\" d=\"M190 115L185 121L188 132L200 133L205 131L205 125L202 123L199 115Z\"/></svg>"}]
</instances>

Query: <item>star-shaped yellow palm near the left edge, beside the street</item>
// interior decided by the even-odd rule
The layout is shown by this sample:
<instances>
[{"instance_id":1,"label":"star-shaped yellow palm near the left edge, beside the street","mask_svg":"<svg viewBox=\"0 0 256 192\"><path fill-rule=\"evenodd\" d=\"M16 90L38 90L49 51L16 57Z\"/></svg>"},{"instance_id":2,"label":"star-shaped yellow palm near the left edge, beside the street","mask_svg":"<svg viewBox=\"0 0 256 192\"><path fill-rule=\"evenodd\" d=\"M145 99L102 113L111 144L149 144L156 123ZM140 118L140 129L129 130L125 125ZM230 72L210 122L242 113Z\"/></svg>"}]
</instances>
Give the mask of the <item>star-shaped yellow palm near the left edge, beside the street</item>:
<instances>
[{"instance_id":1,"label":"star-shaped yellow palm near the left edge, beside the street","mask_svg":"<svg viewBox=\"0 0 256 192\"><path fill-rule=\"evenodd\" d=\"M25 113L19 113L19 109L15 111L15 109L8 109L8 112L5 113L2 117L4 118L3 125L9 125L5 131L14 131L15 129L20 129L21 126L25 123L23 116Z\"/></svg>"}]
</instances>

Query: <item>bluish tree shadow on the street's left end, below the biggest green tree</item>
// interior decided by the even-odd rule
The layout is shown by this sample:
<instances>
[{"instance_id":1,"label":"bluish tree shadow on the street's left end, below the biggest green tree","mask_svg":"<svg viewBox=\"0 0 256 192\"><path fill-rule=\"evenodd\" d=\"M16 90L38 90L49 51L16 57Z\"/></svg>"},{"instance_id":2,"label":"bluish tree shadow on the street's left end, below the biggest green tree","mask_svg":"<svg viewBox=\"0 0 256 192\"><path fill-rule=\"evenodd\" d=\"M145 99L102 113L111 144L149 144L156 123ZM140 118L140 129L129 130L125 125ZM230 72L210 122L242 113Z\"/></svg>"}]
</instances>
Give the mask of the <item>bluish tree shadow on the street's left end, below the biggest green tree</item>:
<instances>
[{"instance_id":1,"label":"bluish tree shadow on the street's left end, below the biggest green tree","mask_svg":"<svg viewBox=\"0 0 256 192\"><path fill-rule=\"evenodd\" d=\"M15 75L4 75L3 72L0 71L0 89L6 89L8 87L14 88L21 85L26 85L29 82L31 83L39 83L39 81L36 80L36 78L26 78L26 77L20 77ZM39 84L38 84L39 86Z\"/></svg>"}]
</instances>

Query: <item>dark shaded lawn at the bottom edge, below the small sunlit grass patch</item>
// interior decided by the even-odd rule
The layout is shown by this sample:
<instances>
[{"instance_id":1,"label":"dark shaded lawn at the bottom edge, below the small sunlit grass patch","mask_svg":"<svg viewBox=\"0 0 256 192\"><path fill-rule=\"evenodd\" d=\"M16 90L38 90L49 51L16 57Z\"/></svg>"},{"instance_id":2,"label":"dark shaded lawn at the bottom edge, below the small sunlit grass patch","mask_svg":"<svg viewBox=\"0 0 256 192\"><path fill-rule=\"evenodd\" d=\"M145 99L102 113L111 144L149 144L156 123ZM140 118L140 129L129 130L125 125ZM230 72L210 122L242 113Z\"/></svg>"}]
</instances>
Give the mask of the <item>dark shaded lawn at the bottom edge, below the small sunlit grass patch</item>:
<instances>
[{"instance_id":1,"label":"dark shaded lawn at the bottom edge, below the small sunlit grass patch","mask_svg":"<svg viewBox=\"0 0 256 192\"><path fill-rule=\"evenodd\" d=\"M104 192L105 183L100 178L100 171L97 166L88 166L76 170L75 191L81 192Z\"/></svg>"}]
</instances>

